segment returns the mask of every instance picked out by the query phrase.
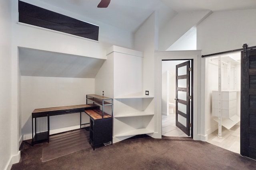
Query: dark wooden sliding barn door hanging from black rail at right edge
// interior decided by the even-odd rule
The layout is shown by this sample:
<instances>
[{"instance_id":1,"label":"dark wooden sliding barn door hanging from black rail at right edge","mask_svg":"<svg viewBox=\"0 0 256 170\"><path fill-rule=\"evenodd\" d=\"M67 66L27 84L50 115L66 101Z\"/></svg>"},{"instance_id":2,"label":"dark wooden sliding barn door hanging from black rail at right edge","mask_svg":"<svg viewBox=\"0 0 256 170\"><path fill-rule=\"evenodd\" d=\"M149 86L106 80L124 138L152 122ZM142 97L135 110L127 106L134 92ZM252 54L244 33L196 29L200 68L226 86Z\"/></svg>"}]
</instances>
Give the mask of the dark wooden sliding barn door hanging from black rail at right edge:
<instances>
[{"instance_id":1,"label":"dark wooden sliding barn door hanging from black rail at right edge","mask_svg":"<svg viewBox=\"0 0 256 170\"><path fill-rule=\"evenodd\" d=\"M256 159L256 50L241 57L241 154Z\"/></svg>"}]
</instances>

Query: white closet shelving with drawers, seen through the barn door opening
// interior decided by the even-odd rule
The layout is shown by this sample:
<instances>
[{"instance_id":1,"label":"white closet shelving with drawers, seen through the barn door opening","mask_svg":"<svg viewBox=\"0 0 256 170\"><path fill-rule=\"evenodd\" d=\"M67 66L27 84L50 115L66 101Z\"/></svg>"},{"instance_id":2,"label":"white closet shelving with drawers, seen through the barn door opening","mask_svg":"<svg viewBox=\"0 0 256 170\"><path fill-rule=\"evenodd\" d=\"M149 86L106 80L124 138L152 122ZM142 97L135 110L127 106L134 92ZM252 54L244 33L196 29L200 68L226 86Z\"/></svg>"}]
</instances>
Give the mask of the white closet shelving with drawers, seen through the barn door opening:
<instances>
[{"instance_id":1,"label":"white closet shelving with drawers, seen through the barn door opening","mask_svg":"<svg viewBox=\"0 0 256 170\"><path fill-rule=\"evenodd\" d=\"M218 90L212 91L212 115L218 122L218 136L222 136L222 126L230 129L240 121L237 115L238 77L237 66L240 61L232 56L213 57L212 61L218 65ZM225 71L223 70L225 69ZM225 74L223 78L222 74Z\"/></svg>"}]
</instances>

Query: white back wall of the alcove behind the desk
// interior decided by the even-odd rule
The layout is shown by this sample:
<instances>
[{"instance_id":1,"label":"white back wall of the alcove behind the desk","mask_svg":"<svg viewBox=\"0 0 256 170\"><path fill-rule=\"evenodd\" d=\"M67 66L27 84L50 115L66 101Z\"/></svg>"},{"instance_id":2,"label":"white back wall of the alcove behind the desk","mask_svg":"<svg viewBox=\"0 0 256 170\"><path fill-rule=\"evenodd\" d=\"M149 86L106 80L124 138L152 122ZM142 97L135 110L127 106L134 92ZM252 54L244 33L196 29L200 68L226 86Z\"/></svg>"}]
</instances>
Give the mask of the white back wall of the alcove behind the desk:
<instances>
[{"instance_id":1,"label":"white back wall of the alcove behind the desk","mask_svg":"<svg viewBox=\"0 0 256 170\"><path fill-rule=\"evenodd\" d=\"M94 94L94 78L22 76L23 140L32 138L31 113L34 109L86 104L86 94ZM67 128L61 129L64 127ZM79 113L50 117L50 134L77 128L80 128Z\"/></svg>"}]
</instances>

